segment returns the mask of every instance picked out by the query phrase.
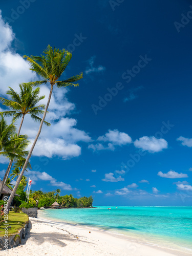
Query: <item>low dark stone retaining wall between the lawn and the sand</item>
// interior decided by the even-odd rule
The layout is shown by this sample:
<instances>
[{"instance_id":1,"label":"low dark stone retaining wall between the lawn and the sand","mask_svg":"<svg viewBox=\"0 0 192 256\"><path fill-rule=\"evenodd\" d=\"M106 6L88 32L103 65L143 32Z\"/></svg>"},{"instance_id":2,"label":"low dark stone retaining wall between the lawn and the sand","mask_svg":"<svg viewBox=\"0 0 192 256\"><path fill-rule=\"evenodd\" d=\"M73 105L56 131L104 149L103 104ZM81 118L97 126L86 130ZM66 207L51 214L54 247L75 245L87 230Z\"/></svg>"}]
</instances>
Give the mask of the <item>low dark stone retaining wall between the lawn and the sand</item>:
<instances>
[{"instance_id":1,"label":"low dark stone retaining wall between the lawn and the sand","mask_svg":"<svg viewBox=\"0 0 192 256\"><path fill-rule=\"evenodd\" d=\"M0 237L0 251L10 249L21 244L22 239L26 238L28 227L29 222L26 223L25 226L20 229L17 234L12 234L11 236L8 236L8 238Z\"/></svg>"}]
</instances>

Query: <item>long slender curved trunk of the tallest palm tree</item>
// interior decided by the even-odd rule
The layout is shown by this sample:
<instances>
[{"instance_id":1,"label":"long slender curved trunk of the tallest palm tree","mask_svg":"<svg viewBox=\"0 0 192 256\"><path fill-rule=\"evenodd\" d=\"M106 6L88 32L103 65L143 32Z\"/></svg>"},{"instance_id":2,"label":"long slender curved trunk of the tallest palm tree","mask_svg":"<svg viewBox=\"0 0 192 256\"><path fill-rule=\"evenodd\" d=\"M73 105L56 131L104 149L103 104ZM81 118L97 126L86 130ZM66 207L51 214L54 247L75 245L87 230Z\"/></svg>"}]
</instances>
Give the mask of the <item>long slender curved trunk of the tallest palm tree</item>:
<instances>
[{"instance_id":1,"label":"long slender curved trunk of the tallest palm tree","mask_svg":"<svg viewBox=\"0 0 192 256\"><path fill-rule=\"evenodd\" d=\"M37 133L36 138L35 138L35 140L34 140L34 142L33 142L33 145L32 145L32 147L31 147L31 150L30 150L30 152L29 152L29 155L27 156L27 159L26 159L25 164L24 164L24 166L23 166L22 172L20 173L20 175L19 175L19 177L18 177L18 179L17 179L17 181L16 181L16 184L15 184L15 186L14 186L14 188L13 188L13 191L12 191L12 193L11 193L11 196L9 197L9 200L8 200L8 203L7 203L8 212L9 212L9 207L10 207L10 205L11 205L11 202L12 202L14 196L15 196L17 187L18 187L20 181L22 180L22 176L24 175L25 169L27 168L27 164L28 164L29 159L30 159L30 157L31 157L31 155L32 155L32 152L33 152L33 150L34 150L35 144L36 144L36 142L37 142L37 140L38 140L38 137L39 137L39 135L40 135L40 132L41 132L41 129L42 129L42 124L44 123L44 120L45 120L45 118L46 118L47 110L48 110L49 103L50 103L50 100L51 100L51 95L52 95L52 92L53 92L53 85L54 85L54 84L51 84L51 90L50 90L50 93L49 93L49 98L48 98L48 101L47 101L47 105L46 105L46 109L45 109L45 112L44 112L44 116L42 117L42 120L41 120L40 125L39 125L38 133Z\"/></svg>"}]
</instances>

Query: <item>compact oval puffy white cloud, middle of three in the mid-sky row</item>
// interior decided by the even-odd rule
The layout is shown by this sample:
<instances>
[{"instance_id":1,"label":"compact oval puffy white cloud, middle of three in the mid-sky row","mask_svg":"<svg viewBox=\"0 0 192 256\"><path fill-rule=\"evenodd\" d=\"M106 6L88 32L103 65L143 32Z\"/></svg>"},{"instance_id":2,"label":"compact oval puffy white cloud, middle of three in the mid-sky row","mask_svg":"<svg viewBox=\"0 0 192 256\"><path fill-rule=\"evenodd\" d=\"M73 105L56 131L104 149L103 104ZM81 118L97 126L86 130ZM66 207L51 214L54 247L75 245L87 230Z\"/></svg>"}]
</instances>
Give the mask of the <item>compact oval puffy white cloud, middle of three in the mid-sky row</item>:
<instances>
[{"instance_id":1,"label":"compact oval puffy white cloud, middle of three in the mid-sky row","mask_svg":"<svg viewBox=\"0 0 192 256\"><path fill-rule=\"evenodd\" d=\"M134 146L142 148L143 151L148 151L150 153L160 152L164 148L167 148L168 143L164 139L157 139L154 136L147 137L143 136L139 140L134 141Z\"/></svg>"}]
</instances>

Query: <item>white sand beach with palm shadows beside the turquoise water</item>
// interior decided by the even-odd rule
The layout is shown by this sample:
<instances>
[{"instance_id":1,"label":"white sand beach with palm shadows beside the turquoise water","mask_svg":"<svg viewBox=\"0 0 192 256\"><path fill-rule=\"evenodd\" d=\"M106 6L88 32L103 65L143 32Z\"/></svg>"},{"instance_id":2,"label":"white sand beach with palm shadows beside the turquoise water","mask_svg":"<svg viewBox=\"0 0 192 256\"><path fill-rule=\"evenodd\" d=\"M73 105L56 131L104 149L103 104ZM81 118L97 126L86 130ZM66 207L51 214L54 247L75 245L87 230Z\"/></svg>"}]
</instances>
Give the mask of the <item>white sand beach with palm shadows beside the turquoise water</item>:
<instances>
[{"instance_id":1,"label":"white sand beach with palm shadows beside the turquoise water","mask_svg":"<svg viewBox=\"0 0 192 256\"><path fill-rule=\"evenodd\" d=\"M2 251L1 255L122 255L173 256L189 255L179 251L144 245L126 236L94 227L60 224L45 219L30 219L30 230L22 245Z\"/></svg>"}]
</instances>

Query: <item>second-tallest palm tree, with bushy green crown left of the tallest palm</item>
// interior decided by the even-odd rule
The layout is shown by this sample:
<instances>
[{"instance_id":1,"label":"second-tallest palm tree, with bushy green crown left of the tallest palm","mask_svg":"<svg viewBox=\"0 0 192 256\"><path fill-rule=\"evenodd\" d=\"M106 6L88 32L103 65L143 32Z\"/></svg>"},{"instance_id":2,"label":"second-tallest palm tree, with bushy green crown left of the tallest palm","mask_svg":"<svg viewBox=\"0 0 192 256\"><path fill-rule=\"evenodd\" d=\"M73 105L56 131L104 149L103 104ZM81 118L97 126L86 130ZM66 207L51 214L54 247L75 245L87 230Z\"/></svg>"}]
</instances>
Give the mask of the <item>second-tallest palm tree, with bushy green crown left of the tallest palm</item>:
<instances>
[{"instance_id":1,"label":"second-tallest palm tree, with bushy green crown left of the tallest palm","mask_svg":"<svg viewBox=\"0 0 192 256\"><path fill-rule=\"evenodd\" d=\"M20 92L17 93L12 88L9 87L9 91L7 91L7 94L11 97L11 99L0 97L0 100L2 101L2 103L10 108L9 111L0 112L0 115L8 116L8 117L13 116L13 121L22 117L22 121L20 122L17 136L19 136L20 134L20 130L22 129L22 125L23 125L26 114L30 114L31 118L34 121L40 122L41 118L38 117L38 115L43 114L45 109L44 104L36 106L36 104L40 100L45 98L45 95L39 96L39 90L40 90L39 88L36 88L34 90L32 86L29 86L26 83L24 83L23 85L19 84L19 88L20 88ZM46 121L44 122L46 125L50 125L50 123ZM6 183L6 180L9 176L12 163L13 161L10 160L3 182L0 186L0 196L3 190L3 187Z\"/></svg>"}]
</instances>

